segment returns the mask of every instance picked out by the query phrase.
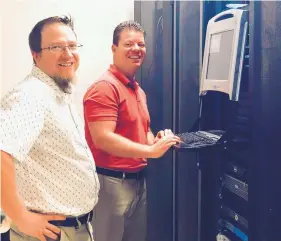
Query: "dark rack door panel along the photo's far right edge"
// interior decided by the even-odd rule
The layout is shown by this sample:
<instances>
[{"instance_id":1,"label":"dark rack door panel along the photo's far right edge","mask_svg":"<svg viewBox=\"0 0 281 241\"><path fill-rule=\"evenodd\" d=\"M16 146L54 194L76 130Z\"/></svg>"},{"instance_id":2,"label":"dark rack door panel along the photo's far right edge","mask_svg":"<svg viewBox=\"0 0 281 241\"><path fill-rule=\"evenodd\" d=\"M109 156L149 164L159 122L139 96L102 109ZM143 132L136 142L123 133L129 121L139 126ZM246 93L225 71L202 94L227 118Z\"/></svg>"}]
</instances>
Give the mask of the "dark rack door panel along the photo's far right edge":
<instances>
[{"instance_id":1,"label":"dark rack door panel along the photo's far right edge","mask_svg":"<svg viewBox=\"0 0 281 241\"><path fill-rule=\"evenodd\" d=\"M250 241L281 240L281 2L252 2Z\"/></svg>"}]
</instances>

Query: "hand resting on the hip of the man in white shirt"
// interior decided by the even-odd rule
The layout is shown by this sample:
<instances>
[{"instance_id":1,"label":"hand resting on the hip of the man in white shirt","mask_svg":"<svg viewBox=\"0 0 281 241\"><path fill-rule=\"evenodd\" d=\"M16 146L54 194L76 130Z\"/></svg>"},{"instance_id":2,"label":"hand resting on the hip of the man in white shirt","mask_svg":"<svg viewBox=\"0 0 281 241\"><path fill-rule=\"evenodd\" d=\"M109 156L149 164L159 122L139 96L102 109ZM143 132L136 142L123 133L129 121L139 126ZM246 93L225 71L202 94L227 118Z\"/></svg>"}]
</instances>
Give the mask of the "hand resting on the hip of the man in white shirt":
<instances>
[{"instance_id":1,"label":"hand resting on the hip of the man in white shirt","mask_svg":"<svg viewBox=\"0 0 281 241\"><path fill-rule=\"evenodd\" d=\"M46 241L46 237L56 240L60 235L60 229L53 224L51 220L65 220L62 215L47 215L27 211L22 215L19 222L15 222L18 229L26 235L38 238L40 241Z\"/></svg>"}]
</instances>

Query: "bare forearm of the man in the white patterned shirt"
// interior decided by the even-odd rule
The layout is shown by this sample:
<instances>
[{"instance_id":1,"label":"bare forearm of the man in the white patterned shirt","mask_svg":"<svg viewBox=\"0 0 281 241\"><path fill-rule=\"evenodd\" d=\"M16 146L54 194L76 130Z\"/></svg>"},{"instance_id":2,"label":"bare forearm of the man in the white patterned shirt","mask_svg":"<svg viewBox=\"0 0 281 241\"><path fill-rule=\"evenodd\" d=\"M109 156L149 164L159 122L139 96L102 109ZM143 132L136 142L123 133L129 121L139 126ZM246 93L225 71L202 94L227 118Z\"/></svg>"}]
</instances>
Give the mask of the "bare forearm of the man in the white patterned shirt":
<instances>
[{"instance_id":1,"label":"bare forearm of the man in the white patterned shirt","mask_svg":"<svg viewBox=\"0 0 281 241\"><path fill-rule=\"evenodd\" d=\"M27 211L16 188L15 166L11 155L1 151L1 208L15 223Z\"/></svg>"}]
</instances>

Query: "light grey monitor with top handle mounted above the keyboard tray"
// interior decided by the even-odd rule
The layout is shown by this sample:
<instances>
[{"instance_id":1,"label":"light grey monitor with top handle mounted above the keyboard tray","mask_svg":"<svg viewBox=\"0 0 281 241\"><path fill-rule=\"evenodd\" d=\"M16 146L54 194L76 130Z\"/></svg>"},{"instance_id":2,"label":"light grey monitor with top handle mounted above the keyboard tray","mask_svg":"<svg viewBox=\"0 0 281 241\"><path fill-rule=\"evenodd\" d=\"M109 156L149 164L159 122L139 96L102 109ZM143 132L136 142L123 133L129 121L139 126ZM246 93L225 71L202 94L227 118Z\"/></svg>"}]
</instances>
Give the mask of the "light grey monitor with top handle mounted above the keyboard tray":
<instances>
[{"instance_id":1,"label":"light grey monitor with top handle mounted above the keyboard tray","mask_svg":"<svg viewBox=\"0 0 281 241\"><path fill-rule=\"evenodd\" d=\"M200 95L220 91L239 98L248 22L246 11L230 9L208 22Z\"/></svg>"}]
</instances>

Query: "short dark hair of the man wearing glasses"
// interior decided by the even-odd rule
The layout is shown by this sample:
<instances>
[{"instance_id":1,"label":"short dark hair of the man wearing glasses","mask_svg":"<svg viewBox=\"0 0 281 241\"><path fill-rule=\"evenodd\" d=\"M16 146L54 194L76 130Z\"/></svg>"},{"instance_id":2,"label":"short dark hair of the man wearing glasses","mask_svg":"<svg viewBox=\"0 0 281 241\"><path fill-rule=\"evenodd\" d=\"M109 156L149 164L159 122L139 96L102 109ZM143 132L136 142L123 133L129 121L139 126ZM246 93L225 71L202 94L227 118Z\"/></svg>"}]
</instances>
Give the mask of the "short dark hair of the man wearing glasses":
<instances>
[{"instance_id":1,"label":"short dark hair of the man wearing glasses","mask_svg":"<svg viewBox=\"0 0 281 241\"><path fill-rule=\"evenodd\" d=\"M30 50L33 52L41 52L41 40L42 40L42 29L48 25L48 24L53 24L53 23L61 23L66 26L69 26L72 31L74 32L74 27L73 27L73 21L71 19L71 16L54 16L54 17L49 17L41 20L38 22L33 29L31 30L29 37L28 37L28 42L29 42L29 47ZM75 32L74 32L75 34ZM76 34L75 34L76 35Z\"/></svg>"}]
</instances>

